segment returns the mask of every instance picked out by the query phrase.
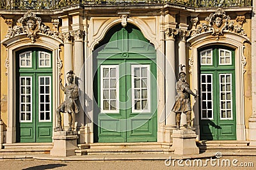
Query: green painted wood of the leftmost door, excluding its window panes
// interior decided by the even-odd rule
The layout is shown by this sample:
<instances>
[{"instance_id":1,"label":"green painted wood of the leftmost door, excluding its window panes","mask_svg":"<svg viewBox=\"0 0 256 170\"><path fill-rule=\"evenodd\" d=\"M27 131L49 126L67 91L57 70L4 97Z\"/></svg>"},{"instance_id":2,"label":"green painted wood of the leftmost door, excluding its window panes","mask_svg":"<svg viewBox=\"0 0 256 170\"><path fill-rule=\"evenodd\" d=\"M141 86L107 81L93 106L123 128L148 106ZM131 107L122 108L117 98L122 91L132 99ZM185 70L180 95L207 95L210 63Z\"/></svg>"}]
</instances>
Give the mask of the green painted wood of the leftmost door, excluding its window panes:
<instances>
[{"instance_id":1,"label":"green painted wood of the leftmost door, excluding its window panes","mask_svg":"<svg viewBox=\"0 0 256 170\"><path fill-rule=\"evenodd\" d=\"M26 51L32 51L32 67L31 68L19 68L19 54ZM51 142L52 141L52 113L51 122L39 122L39 111L38 111L38 76L51 76L52 79L52 61L51 67L42 68L38 67L38 51L51 53L49 50L44 50L42 48L26 48L25 50L20 50L17 52L17 80L20 76L32 76L32 122L20 122L19 113L19 81L17 81L17 142L21 143L34 143L34 142ZM51 55L52 59L52 55ZM52 82L52 80L51 80ZM52 87L51 87L52 90ZM52 91L51 91L52 94ZM52 101L52 96L51 96ZM51 104L52 110L52 104Z\"/></svg>"}]
</instances>

